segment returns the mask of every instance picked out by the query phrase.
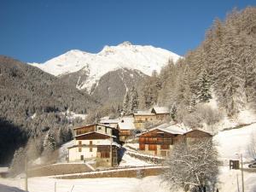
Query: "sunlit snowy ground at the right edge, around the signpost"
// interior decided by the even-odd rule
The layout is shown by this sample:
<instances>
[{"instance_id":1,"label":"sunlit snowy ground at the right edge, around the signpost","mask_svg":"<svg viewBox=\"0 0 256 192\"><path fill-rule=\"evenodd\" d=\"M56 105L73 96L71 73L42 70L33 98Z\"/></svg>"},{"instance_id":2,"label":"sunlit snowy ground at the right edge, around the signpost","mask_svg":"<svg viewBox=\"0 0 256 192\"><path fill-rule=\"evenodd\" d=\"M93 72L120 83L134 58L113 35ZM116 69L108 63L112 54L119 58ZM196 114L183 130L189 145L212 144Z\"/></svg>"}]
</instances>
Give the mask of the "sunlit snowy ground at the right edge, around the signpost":
<instances>
[{"instance_id":1,"label":"sunlit snowy ground at the right edge, around the signpost","mask_svg":"<svg viewBox=\"0 0 256 192\"><path fill-rule=\"evenodd\" d=\"M222 160L224 163L224 166L221 166L219 169L219 191L238 192L238 186L241 191L241 171L230 170L229 160L239 159L238 154L242 154L244 161L252 160L248 153L248 145L252 134L255 133L256 124L252 124L240 129L220 131L218 135L213 137L213 141L218 148L219 160ZM244 167L247 168L247 165L244 165ZM246 192L256 191L256 172L244 172L244 181Z\"/></svg>"}]
</instances>

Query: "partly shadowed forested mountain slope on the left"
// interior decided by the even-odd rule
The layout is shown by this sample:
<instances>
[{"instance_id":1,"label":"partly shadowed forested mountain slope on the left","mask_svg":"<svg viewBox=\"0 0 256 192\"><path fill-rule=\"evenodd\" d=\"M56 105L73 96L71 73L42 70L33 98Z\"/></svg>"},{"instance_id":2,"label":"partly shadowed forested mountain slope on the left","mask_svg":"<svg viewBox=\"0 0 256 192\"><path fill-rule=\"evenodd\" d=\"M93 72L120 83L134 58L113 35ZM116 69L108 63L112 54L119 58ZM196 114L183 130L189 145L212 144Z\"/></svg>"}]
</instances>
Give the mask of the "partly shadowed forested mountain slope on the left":
<instances>
[{"instance_id":1,"label":"partly shadowed forested mountain slope on the left","mask_svg":"<svg viewBox=\"0 0 256 192\"><path fill-rule=\"evenodd\" d=\"M37 143L38 154L54 150L72 137L69 126L75 120L66 118L67 110L86 113L98 105L86 93L37 67L0 56L0 135L5 136L0 144L0 151L4 151L0 164L8 163L15 148L28 140Z\"/></svg>"}]
</instances>

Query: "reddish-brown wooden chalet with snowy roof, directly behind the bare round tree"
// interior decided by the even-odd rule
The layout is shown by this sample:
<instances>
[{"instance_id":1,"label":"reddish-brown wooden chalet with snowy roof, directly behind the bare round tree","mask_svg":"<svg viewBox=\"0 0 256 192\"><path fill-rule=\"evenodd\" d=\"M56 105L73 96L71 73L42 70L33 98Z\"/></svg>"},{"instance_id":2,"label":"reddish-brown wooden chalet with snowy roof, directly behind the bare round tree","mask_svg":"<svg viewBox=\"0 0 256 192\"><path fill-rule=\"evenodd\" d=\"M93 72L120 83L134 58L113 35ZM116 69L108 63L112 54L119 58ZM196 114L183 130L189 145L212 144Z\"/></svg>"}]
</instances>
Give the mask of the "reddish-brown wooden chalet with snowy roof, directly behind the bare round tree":
<instances>
[{"instance_id":1,"label":"reddish-brown wooden chalet with snowy roof, directly behind the bare round tree","mask_svg":"<svg viewBox=\"0 0 256 192\"><path fill-rule=\"evenodd\" d=\"M163 124L139 136L139 150L143 154L166 157L172 146L183 139L183 131L176 125Z\"/></svg>"}]
</instances>

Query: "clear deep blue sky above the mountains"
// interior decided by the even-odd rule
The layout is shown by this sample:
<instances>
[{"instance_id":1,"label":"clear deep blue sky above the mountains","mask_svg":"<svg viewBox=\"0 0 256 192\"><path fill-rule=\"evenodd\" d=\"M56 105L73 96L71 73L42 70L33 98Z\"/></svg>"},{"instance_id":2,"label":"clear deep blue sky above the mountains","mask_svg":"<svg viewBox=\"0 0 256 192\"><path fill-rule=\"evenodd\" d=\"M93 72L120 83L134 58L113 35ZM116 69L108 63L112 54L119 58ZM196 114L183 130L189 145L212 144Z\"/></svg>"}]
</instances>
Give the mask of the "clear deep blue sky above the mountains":
<instances>
[{"instance_id":1,"label":"clear deep blue sky above the mountains","mask_svg":"<svg viewBox=\"0 0 256 192\"><path fill-rule=\"evenodd\" d=\"M0 0L0 55L44 62L69 49L151 44L184 55L216 18L255 0Z\"/></svg>"}]
</instances>

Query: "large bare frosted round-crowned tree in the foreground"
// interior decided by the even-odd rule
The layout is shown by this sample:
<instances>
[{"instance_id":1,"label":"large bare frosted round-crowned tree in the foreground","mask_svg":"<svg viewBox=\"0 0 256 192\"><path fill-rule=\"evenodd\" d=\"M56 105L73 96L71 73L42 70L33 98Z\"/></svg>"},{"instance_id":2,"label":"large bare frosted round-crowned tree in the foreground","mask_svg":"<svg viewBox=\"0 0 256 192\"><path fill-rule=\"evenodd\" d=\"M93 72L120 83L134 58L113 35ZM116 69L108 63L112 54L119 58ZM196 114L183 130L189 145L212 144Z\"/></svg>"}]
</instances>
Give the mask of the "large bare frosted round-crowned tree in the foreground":
<instances>
[{"instance_id":1,"label":"large bare frosted round-crowned tree in the foreground","mask_svg":"<svg viewBox=\"0 0 256 192\"><path fill-rule=\"evenodd\" d=\"M218 154L212 140L194 143L179 143L174 146L166 160L163 180L170 184L172 191L179 189L202 189L213 191L218 175Z\"/></svg>"}]
</instances>

